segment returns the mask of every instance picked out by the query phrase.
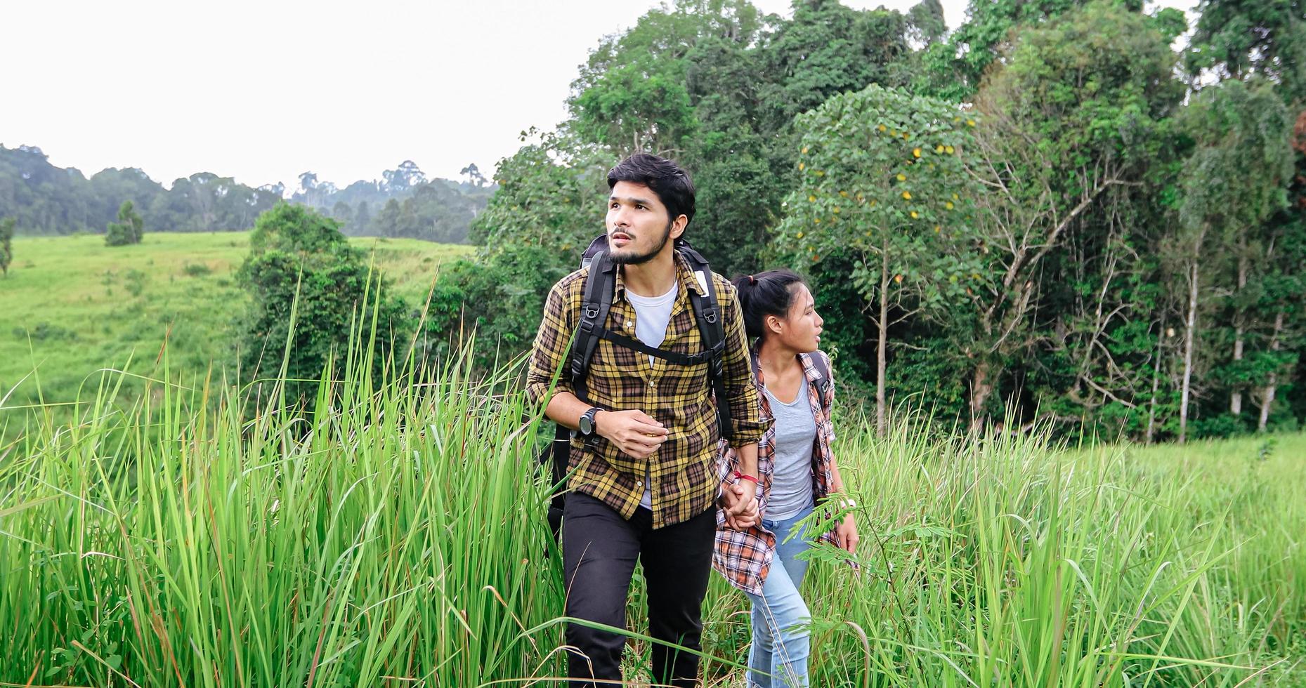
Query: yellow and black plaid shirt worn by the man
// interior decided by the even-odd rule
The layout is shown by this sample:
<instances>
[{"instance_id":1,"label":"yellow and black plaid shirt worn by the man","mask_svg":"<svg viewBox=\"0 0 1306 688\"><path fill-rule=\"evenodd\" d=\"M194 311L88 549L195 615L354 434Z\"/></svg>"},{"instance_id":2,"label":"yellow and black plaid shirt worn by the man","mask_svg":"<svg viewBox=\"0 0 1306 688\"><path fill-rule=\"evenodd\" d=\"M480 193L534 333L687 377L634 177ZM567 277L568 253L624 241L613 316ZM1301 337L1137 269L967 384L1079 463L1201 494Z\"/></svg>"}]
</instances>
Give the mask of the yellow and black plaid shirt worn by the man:
<instances>
[{"instance_id":1,"label":"yellow and black plaid shirt worn by the man","mask_svg":"<svg viewBox=\"0 0 1306 688\"><path fill-rule=\"evenodd\" d=\"M588 274L588 268L577 270L549 291L545 319L539 324L526 373L526 394L533 403L547 402L555 373L567 363L572 334L580 321ZM693 290L704 294L707 290L679 253L677 278L679 292L671 307L671 320L661 349L696 354L703 349L703 336L693 317L688 292ZM756 443L767 426L761 422L757 406L743 313L735 299L734 286L717 274L703 275L703 279L708 278L714 281L717 308L725 325L722 367L730 416L734 420L731 443L743 446ZM616 292L603 326L635 337L635 307L626 298L622 270L616 272ZM721 487L717 474L717 443L721 432L707 363L677 366L654 359L650 364L645 354L599 339L585 385L594 406L614 411L644 411L666 426L670 436L646 460L619 453L603 437L597 439L594 448L572 439L571 490L602 500L622 517L629 518L644 495L646 470L653 479L653 527L679 524L712 508ZM575 393L565 375L558 380L556 389Z\"/></svg>"}]
</instances>

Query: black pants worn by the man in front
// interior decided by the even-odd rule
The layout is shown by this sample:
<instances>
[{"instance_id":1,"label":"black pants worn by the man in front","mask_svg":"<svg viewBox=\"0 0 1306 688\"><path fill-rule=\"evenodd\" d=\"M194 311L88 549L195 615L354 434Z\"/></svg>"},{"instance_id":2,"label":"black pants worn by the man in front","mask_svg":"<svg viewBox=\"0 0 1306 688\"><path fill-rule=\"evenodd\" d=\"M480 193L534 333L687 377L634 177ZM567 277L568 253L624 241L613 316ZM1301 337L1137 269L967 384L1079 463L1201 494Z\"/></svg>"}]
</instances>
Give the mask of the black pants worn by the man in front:
<instances>
[{"instance_id":1,"label":"black pants worn by the man in front","mask_svg":"<svg viewBox=\"0 0 1306 688\"><path fill-rule=\"evenodd\" d=\"M563 510L567 615L626 628L626 595L639 560L648 584L649 634L701 649L703 597L708 591L716 530L713 509L654 530L653 513L648 509L636 509L627 521L589 495L568 493ZM567 644L585 654L568 654L569 678L622 679L626 636L568 624ZM653 645L654 683L692 687L697 684L697 675L696 655ZM596 684L573 680L571 685Z\"/></svg>"}]
</instances>

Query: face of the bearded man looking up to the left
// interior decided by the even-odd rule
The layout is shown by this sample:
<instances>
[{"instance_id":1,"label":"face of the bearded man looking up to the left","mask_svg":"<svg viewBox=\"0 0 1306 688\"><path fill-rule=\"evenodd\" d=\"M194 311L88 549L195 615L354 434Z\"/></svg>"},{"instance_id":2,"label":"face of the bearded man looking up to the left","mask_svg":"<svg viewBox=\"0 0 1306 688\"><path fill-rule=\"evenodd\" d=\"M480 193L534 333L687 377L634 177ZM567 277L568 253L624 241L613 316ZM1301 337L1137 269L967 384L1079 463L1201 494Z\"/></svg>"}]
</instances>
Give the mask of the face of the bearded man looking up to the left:
<instances>
[{"instance_id":1,"label":"face of the bearded man looking up to the left","mask_svg":"<svg viewBox=\"0 0 1306 688\"><path fill-rule=\"evenodd\" d=\"M669 217L653 189L618 181L607 198L607 247L619 265L639 265L661 253L684 230L684 215Z\"/></svg>"}]
</instances>

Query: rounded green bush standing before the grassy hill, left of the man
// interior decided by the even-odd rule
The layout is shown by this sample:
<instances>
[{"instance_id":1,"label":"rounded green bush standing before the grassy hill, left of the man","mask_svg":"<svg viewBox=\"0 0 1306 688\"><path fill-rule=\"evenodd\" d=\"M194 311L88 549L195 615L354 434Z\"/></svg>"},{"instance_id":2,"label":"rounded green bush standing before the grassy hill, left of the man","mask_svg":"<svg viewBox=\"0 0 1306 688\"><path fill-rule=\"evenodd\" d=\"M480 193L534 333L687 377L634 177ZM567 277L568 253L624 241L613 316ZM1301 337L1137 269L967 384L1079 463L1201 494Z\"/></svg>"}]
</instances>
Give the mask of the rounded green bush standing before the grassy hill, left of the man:
<instances>
[{"instance_id":1,"label":"rounded green bush standing before the grassy hill, left of the man","mask_svg":"<svg viewBox=\"0 0 1306 688\"><path fill-rule=\"evenodd\" d=\"M370 333L377 369L411 332L404 302L338 223L302 205L278 204L259 217L238 277L251 296L240 343L244 379L282 371L293 399L307 401L316 390L351 332Z\"/></svg>"}]
</instances>

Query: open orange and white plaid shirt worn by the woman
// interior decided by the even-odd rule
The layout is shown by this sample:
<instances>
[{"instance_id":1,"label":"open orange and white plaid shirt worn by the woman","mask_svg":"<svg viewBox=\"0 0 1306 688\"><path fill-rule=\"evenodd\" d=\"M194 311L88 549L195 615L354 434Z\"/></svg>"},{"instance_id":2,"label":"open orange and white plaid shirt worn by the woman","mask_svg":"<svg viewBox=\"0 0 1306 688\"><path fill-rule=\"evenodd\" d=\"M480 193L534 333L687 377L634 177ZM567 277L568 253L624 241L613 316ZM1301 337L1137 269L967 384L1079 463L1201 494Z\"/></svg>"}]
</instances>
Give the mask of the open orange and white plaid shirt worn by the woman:
<instances>
[{"instance_id":1,"label":"open orange and white plaid shirt worn by the woman","mask_svg":"<svg viewBox=\"0 0 1306 688\"><path fill-rule=\"evenodd\" d=\"M821 406L823 399L816 392L816 385L811 384L820 380L820 373L816 372L816 367L812 364L812 356L824 356L825 369L832 371L832 368L829 367L829 356L824 351L798 354L803 364L803 373L807 376L807 384L803 388L807 390L807 401L811 403L812 416L816 419L816 440L812 443L812 495L820 501L829 495L829 486L835 480L831 469L835 465L835 454L829 449L831 443L835 441L835 426L825 416ZM773 418L771 415L771 402L761 393L765 383L761 377L761 367L757 366L756 354L752 356L752 368L757 376L757 401L761 405L761 415L771 419ZM825 393L824 409L831 409L835 403L833 376L833 372L831 372L831 385ZM757 443L757 478L760 482L757 507L761 509L763 516L767 513L767 499L771 496L771 479L776 473L774 443L776 428L774 426L769 426L761 436L761 441ZM733 473L738 461L739 458L734 448L722 443L722 474L727 475ZM734 530L726 526L725 521L725 513L718 510L717 544L716 551L712 554L712 568L721 572L730 581L730 585L746 593L760 595L761 582L767 580L767 572L771 571L771 560L776 552L776 534L760 525L744 530ZM821 535L820 539L831 544L836 543L833 531Z\"/></svg>"}]
</instances>

